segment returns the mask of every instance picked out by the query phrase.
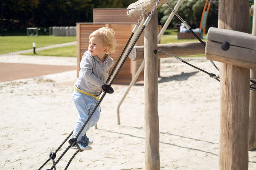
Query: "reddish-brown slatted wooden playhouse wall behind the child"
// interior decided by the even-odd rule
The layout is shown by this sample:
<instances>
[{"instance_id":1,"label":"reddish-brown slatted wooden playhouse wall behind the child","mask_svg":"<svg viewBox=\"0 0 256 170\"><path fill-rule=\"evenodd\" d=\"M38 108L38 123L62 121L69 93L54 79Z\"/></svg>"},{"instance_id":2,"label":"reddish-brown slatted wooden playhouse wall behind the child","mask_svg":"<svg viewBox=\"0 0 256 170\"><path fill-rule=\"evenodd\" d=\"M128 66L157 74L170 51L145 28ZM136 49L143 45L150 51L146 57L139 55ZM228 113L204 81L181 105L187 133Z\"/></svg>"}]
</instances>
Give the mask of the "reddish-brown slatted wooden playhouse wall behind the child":
<instances>
[{"instance_id":1,"label":"reddish-brown slatted wooden playhouse wall behind the child","mask_svg":"<svg viewBox=\"0 0 256 170\"><path fill-rule=\"evenodd\" d=\"M103 21L109 21L109 17L111 16L111 13L116 14L116 12L121 12L126 17L125 22L118 22L119 17L112 17L115 18L115 20L112 19L112 22L104 23ZM103 14L101 13L103 12ZM108 12L108 14L106 14ZM126 15L126 8L107 8L103 9L93 9L93 18L95 18L96 21L94 23L76 23L76 39L77 39L77 76L79 74L80 70L80 61L85 51L88 50L89 45L89 35L95 31L98 28L101 27L108 27L112 28L116 33L116 52L113 54L110 54L110 56L114 59L114 62L118 59L119 55L122 52L122 49L124 48L128 38L131 35L131 31L133 30L135 24L134 20L131 20ZM120 13L121 14L121 13ZM101 17L94 17L94 16L101 16ZM123 17L121 17L123 18ZM94 20L94 19L93 19ZM158 31L160 32L161 26L158 26ZM144 31L142 35L140 36L139 40L137 41L136 45L143 45L144 44ZM159 60L160 61L160 60ZM132 78L134 77L134 74L137 72L138 68L140 67L141 63L143 61L132 61L129 57L125 61L125 64L122 66L122 69L119 71L119 74L117 75L116 79L114 80L114 84L128 84L131 82ZM113 67L112 67L113 68ZM112 69L111 68L111 69ZM159 62L159 68L160 71L160 62ZM138 77L137 81L143 80L144 72L142 71L140 76Z\"/></svg>"}]
</instances>

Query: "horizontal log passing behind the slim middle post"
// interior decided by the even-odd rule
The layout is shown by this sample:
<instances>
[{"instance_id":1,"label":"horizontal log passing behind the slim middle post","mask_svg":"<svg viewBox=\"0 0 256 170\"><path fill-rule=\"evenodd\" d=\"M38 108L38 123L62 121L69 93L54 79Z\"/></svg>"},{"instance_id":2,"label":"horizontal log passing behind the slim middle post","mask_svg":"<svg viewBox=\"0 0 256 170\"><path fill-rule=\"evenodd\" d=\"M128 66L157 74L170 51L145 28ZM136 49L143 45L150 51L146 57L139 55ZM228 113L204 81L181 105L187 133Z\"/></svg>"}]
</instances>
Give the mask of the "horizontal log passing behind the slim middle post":
<instances>
[{"instance_id":1,"label":"horizontal log passing behind the slim middle post","mask_svg":"<svg viewBox=\"0 0 256 170\"><path fill-rule=\"evenodd\" d=\"M187 55L204 54L205 48L201 42L182 42L174 44L157 44L157 50L162 49L177 57ZM162 51L158 51L158 58L171 57ZM134 46L129 55L132 60L143 60L144 59L144 46Z\"/></svg>"}]
</instances>

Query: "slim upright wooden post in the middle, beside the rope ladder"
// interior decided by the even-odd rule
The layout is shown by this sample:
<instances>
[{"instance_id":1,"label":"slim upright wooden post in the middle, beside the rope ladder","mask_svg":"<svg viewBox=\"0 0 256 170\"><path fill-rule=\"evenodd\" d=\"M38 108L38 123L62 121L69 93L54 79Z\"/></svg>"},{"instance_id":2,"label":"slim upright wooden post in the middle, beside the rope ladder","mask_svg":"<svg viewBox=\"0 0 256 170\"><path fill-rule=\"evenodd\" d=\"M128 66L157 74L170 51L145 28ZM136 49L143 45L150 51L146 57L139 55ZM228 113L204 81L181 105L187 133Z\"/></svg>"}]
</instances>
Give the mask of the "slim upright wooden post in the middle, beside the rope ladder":
<instances>
[{"instance_id":1,"label":"slim upright wooden post in the middle, beside the rope ladder","mask_svg":"<svg viewBox=\"0 0 256 170\"><path fill-rule=\"evenodd\" d=\"M157 10L145 28L145 170L160 170L157 111Z\"/></svg>"}]
</instances>

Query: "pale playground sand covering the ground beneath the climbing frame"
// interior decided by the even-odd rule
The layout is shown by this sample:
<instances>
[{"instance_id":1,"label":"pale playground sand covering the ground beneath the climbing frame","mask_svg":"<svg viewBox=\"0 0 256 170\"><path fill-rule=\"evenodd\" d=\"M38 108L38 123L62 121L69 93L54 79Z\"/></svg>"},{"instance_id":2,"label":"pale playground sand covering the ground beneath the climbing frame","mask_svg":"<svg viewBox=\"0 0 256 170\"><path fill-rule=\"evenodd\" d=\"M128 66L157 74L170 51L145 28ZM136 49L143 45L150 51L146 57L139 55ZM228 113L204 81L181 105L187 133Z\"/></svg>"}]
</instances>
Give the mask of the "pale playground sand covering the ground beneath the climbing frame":
<instances>
[{"instance_id":1,"label":"pale playground sand covering the ground beneath the climbing frame","mask_svg":"<svg viewBox=\"0 0 256 170\"><path fill-rule=\"evenodd\" d=\"M185 60L218 74L205 58ZM76 71L67 71L0 83L0 170L37 170L71 133L76 109L73 87L65 83L75 77ZM98 129L92 127L87 133L93 149L78 153L68 170L145 169L144 86L131 88L120 108L121 125L117 125L116 108L128 86L112 87L115 93L107 94L101 104ZM161 170L218 169L219 95L219 82L207 74L172 58L161 59ZM66 142L57 158L67 146ZM69 150L56 169L64 170L74 152ZM249 152L250 170L256 170L255 158L256 153ZM51 165L49 161L42 170Z\"/></svg>"}]
</instances>

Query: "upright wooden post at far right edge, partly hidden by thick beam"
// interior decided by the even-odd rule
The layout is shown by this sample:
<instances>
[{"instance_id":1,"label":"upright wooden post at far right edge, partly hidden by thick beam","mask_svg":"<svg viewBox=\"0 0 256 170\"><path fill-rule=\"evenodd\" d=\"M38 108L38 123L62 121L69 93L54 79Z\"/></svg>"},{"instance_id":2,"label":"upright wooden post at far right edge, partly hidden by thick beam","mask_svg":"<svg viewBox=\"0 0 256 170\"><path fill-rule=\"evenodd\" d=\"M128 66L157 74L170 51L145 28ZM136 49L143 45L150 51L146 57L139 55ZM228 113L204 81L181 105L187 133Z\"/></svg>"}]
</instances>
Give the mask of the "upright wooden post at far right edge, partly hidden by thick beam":
<instances>
[{"instance_id":1,"label":"upright wooden post at far right edge, partly hidden by thick beam","mask_svg":"<svg viewBox=\"0 0 256 170\"><path fill-rule=\"evenodd\" d=\"M256 0L254 0L253 11L256 11ZM253 35L256 35L256 12L253 13ZM256 70L250 71L250 77L256 78ZM256 86L254 86L256 87ZM249 113L249 150L256 148L256 91L250 91L250 113Z\"/></svg>"}]
</instances>

